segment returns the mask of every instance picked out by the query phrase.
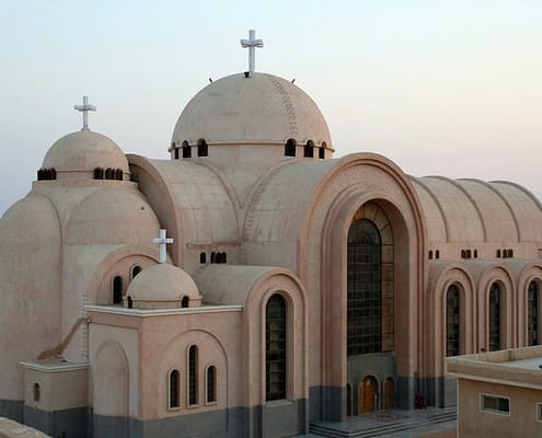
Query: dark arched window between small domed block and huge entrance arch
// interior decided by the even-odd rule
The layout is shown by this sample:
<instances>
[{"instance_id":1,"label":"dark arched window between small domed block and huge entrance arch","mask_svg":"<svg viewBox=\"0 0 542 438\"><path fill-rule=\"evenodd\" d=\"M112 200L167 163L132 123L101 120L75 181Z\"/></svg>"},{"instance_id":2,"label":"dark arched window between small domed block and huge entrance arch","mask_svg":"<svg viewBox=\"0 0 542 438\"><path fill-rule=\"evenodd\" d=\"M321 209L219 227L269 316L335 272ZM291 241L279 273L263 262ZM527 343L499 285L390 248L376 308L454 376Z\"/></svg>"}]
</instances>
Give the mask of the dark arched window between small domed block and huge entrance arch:
<instances>
[{"instance_id":1,"label":"dark arched window between small domed block and huge entrance arch","mask_svg":"<svg viewBox=\"0 0 542 438\"><path fill-rule=\"evenodd\" d=\"M275 293L265 307L265 397L286 399L286 302Z\"/></svg>"}]
</instances>

